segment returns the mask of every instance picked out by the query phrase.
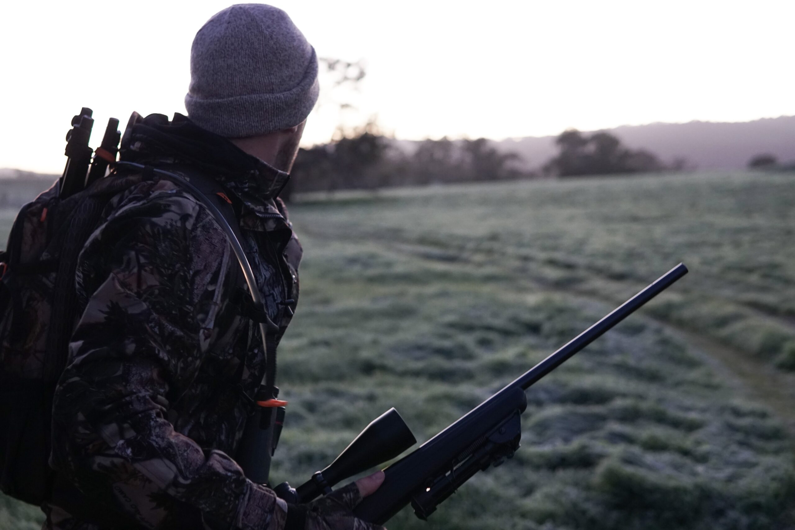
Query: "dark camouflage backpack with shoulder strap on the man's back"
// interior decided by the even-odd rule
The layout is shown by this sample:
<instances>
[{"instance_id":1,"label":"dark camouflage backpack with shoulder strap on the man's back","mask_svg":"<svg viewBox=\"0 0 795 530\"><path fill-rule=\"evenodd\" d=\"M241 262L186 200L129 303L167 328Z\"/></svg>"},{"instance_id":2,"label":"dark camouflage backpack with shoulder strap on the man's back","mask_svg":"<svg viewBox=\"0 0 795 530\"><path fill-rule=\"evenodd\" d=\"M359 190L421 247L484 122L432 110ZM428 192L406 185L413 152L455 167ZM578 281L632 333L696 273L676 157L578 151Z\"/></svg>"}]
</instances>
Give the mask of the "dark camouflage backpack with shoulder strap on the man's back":
<instances>
[{"instance_id":1,"label":"dark camouflage backpack with shoulder strap on the man's back","mask_svg":"<svg viewBox=\"0 0 795 530\"><path fill-rule=\"evenodd\" d=\"M125 165L136 171L96 180L65 199L56 183L25 204L6 250L0 252L0 490L33 505L48 501L52 491L52 397L82 309L75 289L78 256L114 195L155 176L186 188L227 234L253 298L249 304L264 314L256 284L250 283L254 273L239 244L235 211L220 184L198 173L190 174L188 182L140 164L119 162L117 167ZM274 331L266 316L253 319L260 322L275 373L277 327Z\"/></svg>"}]
</instances>

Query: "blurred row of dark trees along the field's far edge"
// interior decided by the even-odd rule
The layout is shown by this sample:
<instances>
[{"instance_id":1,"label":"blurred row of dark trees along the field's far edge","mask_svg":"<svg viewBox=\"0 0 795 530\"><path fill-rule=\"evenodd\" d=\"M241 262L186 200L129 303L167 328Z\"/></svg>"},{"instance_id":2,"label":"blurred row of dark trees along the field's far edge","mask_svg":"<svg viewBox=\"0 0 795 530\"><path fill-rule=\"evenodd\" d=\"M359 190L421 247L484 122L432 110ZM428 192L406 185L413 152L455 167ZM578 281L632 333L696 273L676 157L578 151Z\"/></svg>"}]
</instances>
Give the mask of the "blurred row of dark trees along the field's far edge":
<instances>
[{"instance_id":1,"label":"blurred row of dark trees along the field's far edge","mask_svg":"<svg viewBox=\"0 0 795 530\"><path fill-rule=\"evenodd\" d=\"M586 135L567 130L556 138L558 154L542 173L522 168L517 153L503 153L486 138L421 141L401 149L368 122L358 130L338 130L328 144L301 149L293 179L282 196L294 191L337 191L393 186L516 180L537 176L582 176L654 172L688 168L684 159L664 164L644 149L628 149L610 133Z\"/></svg>"}]
</instances>

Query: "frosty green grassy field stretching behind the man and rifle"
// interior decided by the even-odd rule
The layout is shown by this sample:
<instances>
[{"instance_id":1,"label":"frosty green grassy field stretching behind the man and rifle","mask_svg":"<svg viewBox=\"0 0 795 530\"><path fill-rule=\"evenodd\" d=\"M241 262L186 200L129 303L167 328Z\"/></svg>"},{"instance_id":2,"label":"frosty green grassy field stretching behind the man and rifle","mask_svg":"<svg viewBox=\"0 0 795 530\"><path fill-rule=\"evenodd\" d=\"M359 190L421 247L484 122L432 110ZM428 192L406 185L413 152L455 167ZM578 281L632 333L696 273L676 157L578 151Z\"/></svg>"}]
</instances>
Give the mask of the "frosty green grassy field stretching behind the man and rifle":
<instances>
[{"instance_id":1,"label":"frosty green grassy field stretching behind the man and rifle","mask_svg":"<svg viewBox=\"0 0 795 530\"><path fill-rule=\"evenodd\" d=\"M429 524L388 526L795 528L793 205L793 176L746 173L304 197L274 480L303 482L391 406L428 439L684 261L529 389L513 460ZM0 528L24 528L0 502Z\"/></svg>"}]
</instances>

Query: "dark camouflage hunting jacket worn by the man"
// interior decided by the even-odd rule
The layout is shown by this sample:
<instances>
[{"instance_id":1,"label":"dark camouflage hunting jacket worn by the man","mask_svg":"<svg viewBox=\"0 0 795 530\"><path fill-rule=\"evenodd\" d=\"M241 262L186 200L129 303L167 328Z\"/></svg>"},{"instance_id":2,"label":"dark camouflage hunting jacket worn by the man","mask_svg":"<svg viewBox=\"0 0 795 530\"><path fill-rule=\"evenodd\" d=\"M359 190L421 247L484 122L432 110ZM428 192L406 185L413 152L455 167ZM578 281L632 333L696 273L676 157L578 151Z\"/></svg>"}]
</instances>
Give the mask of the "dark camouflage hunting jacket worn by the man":
<instances>
[{"instance_id":1,"label":"dark camouflage hunting jacket worn by the man","mask_svg":"<svg viewBox=\"0 0 795 530\"><path fill-rule=\"evenodd\" d=\"M150 118L127 140L126 159L196 164L234 195L281 338L301 259L275 197L286 173L186 118ZM56 388L50 461L90 505L142 528L283 527L285 502L247 480L232 456L246 419L242 394L254 396L265 354L258 326L235 302L238 266L206 208L167 180L139 181L103 211L80 254L84 311ZM45 513L45 528L104 528L54 502Z\"/></svg>"}]
</instances>

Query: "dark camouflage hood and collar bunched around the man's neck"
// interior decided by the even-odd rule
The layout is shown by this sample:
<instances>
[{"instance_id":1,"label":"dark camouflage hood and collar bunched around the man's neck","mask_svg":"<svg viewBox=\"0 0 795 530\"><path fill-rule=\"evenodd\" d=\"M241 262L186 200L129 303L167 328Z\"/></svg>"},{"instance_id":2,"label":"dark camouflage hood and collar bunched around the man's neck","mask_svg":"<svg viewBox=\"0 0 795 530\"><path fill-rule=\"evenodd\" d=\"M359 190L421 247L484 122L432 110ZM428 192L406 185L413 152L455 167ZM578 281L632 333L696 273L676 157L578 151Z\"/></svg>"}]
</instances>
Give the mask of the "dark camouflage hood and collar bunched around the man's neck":
<instances>
[{"instance_id":1,"label":"dark camouflage hood and collar bunched around the man's neck","mask_svg":"<svg viewBox=\"0 0 795 530\"><path fill-rule=\"evenodd\" d=\"M273 213L268 203L289 180L289 173L239 149L227 138L202 129L175 113L149 114L128 127L122 138L122 161L138 164L189 164L211 173L242 204L258 214Z\"/></svg>"}]
</instances>

